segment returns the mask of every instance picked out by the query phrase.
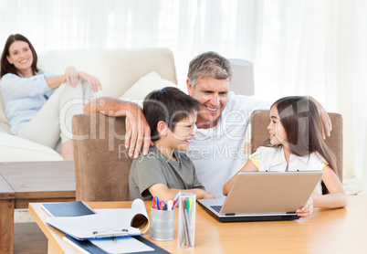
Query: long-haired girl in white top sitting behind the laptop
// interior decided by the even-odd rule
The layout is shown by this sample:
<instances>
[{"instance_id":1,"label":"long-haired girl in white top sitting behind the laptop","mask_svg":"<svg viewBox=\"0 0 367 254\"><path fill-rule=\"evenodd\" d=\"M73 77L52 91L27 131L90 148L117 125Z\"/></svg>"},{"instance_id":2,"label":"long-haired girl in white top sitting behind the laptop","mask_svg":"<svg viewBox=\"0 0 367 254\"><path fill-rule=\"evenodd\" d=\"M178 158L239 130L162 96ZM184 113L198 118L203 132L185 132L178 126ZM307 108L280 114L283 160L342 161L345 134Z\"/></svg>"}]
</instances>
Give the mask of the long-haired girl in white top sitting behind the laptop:
<instances>
[{"instance_id":1,"label":"long-haired girl in white top sitting behind the laptop","mask_svg":"<svg viewBox=\"0 0 367 254\"><path fill-rule=\"evenodd\" d=\"M309 217L313 206L347 206L347 196L334 172L335 159L321 136L322 123L316 105L305 97L285 97L274 102L269 118L270 144L260 146L240 171L323 170L321 180L329 194L322 195L319 182L308 203L297 210L299 217ZM225 196L235 178L236 175L224 185Z\"/></svg>"}]
</instances>

